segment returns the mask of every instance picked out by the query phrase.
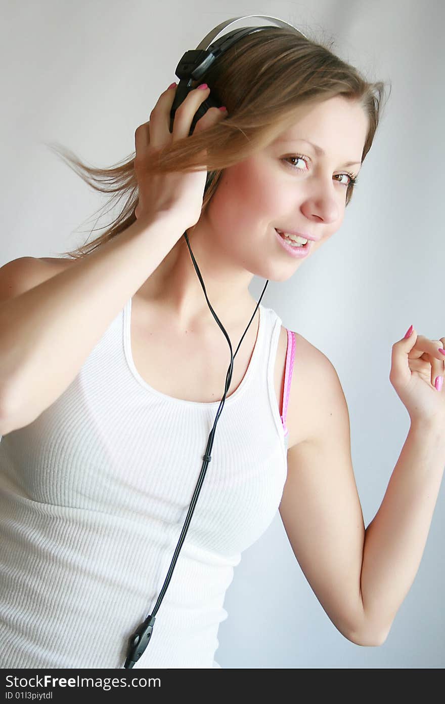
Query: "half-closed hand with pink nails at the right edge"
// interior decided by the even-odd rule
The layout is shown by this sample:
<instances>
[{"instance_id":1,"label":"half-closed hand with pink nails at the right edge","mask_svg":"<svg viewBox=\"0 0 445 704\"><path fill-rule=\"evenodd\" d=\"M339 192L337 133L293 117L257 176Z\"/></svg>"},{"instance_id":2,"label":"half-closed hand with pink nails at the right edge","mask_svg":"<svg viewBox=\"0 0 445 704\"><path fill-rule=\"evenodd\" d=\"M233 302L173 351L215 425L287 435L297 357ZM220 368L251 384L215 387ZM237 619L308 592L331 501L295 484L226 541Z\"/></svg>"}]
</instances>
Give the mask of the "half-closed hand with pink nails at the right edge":
<instances>
[{"instance_id":1,"label":"half-closed hand with pink nails at the right edge","mask_svg":"<svg viewBox=\"0 0 445 704\"><path fill-rule=\"evenodd\" d=\"M413 329L392 346L389 381L411 422L439 424L445 432L445 388L434 386L436 377L444 379L445 355L439 348L445 348L445 337L430 340Z\"/></svg>"}]
</instances>

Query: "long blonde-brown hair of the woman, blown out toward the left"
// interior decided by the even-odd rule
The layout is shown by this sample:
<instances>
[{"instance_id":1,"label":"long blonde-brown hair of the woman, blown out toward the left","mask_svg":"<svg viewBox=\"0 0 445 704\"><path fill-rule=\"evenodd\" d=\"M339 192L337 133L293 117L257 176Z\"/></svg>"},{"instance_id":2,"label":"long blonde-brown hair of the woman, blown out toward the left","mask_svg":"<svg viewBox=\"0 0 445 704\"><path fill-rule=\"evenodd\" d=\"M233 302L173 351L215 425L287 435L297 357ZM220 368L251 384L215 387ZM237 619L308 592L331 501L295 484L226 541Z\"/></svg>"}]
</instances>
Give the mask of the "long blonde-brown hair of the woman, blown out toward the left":
<instances>
[{"instance_id":1,"label":"long blonde-brown hair of the woman, blown out toward the left","mask_svg":"<svg viewBox=\"0 0 445 704\"><path fill-rule=\"evenodd\" d=\"M280 132L295 123L299 110L337 95L358 101L368 116L368 134L361 156L363 163L373 144L385 95L384 82L368 82L359 70L335 56L327 46L282 27L268 27L240 39L219 56L200 78L199 83L202 82L206 82L210 94L216 95L221 105L226 106L228 117L161 149L147 168L149 172L157 173L202 168L198 155L207 149L209 184L203 197L202 212L212 199L224 168L271 144ZM134 172L136 155L133 153L109 168L93 168L63 146L46 146L62 156L94 190L111 194L99 211L106 208L108 213L123 203L120 213L103 234L73 251L63 252L71 258L82 258L135 222L134 210L138 204ZM353 188L349 184L346 205L352 198ZM90 234L95 229L103 228L93 227Z\"/></svg>"}]
</instances>

